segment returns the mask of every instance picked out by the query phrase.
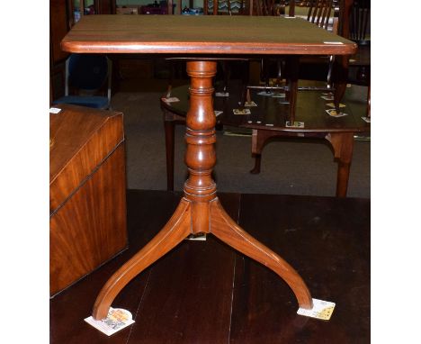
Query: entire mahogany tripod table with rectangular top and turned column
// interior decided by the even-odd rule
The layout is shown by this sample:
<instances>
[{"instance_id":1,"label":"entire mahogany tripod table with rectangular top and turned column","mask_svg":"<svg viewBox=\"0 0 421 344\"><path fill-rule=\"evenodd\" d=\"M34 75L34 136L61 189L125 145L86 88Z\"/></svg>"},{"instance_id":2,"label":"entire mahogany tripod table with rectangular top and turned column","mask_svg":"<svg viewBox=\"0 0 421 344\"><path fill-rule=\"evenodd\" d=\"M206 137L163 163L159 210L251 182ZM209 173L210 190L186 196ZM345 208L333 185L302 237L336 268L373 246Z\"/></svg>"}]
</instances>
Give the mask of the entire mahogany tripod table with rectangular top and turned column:
<instances>
[{"instance_id":1,"label":"entire mahogany tripod table with rectangular top and turned column","mask_svg":"<svg viewBox=\"0 0 421 344\"><path fill-rule=\"evenodd\" d=\"M141 271L191 234L219 240L272 269L291 287L302 308L312 298L301 276L280 256L241 229L219 204L211 177L216 163L212 77L217 59L256 55L349 55L356 45L299 18L249 16L88 15L61 42L77 53L140 53L187 58L191 77L186 116L184 197L157 236L103 285L93 317L106 318L112 301Z\"/></svg>"}]
</instances>

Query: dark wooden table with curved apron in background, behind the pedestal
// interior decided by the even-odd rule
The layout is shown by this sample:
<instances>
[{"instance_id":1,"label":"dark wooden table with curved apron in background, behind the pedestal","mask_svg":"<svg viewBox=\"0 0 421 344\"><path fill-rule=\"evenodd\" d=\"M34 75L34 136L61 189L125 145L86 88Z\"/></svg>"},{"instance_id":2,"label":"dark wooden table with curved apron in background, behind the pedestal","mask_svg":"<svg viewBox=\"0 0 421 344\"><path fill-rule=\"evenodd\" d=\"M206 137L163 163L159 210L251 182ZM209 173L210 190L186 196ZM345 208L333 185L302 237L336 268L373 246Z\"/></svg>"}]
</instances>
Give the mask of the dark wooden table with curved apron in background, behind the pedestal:
<instances>
[{"instance_id":1,"label":"dark wooden table with curved apron in background, behind the pedestal","mask_svg":"<svg viewBox=\"0 0 421 344\"><path fill-rule=\"evenodd\" d=\"M360 115L353 113L346 107L347 116L334 118L326 113L327 101L320 98L317 91L303 91L298 93L295 120L304 122L304 128L289 128L285 122L290 120L290 109L293 104L282 104L281 98L258 95L262 90L250 90L250 100L258 106L251 107L250 115L236 115L233 109L238 108L242 90L240 82L231 81L228 85L228 97L213 97L215 110L222 111L218 116L221 125L250 128L253 130L251 138L251 152L255 157L255 167L251 173L260 172L261 156L264 146L277 137L319 138L327 140L333 149L338 163L336 195L345 197L349 179L349 171L354 147L354 133L370 131L370 124L364 122ZM220 86L219 86L220 87ZM166 127L166 176L167 189L174 189L174 131L175 124L184 123L189 104L188 86L175 87L171 95L180 102L167 104L161 99ZM309 105L311 104L311 105ZM346 104L346 101L345 101Z\"/></svg>"}]
</instances>

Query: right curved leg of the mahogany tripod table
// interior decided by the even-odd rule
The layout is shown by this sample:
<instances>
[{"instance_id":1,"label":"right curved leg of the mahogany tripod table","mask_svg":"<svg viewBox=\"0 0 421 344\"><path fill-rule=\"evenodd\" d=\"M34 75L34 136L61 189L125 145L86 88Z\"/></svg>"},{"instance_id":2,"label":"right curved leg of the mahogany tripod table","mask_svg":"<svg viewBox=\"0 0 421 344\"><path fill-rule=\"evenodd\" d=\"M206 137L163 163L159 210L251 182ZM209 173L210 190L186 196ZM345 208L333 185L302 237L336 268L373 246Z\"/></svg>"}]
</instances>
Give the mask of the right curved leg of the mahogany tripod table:
<instances>
[{"instance_id":1,"label":"right curved leg of the mahogany tripod table","mask_svg":"<svg viewBox=\"0 0 421 344\"><path fill-rule=\"evenodd\" d=\"M216 199L211 204L210 232L233 249L270 268L289 285L301 308L311 309L313 301L309 288L291 265L255 240L225 212Z\"/></svg>"}]
</instances>

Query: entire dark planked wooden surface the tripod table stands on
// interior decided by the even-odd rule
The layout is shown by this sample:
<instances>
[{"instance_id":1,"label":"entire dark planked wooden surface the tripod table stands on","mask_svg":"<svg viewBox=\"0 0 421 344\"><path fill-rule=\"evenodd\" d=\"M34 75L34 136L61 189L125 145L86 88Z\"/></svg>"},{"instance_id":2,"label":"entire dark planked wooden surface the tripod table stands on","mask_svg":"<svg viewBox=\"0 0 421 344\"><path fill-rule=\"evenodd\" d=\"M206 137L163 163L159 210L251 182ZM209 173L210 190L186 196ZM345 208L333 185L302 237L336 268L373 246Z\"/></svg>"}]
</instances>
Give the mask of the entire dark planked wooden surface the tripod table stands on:
<instances>
[{"instance_id":1,"label":"entire dark planked wooden surface the tripod table stands on","mask_svg":"<svg viewBox=\"0 0 421 344\"><path fill-rule=\"evenodd\" d=\"M370 201L219 195L228 213L303 276L313 297L336 302L330 321L296 314L272 271L208 236L184 240L133 279L115 307L135 317L112 337L85 323L112 273L169 219L181 197L128 193L130 247L50 301L51 343L369 343Z\"/></svg>"}]
</instances>

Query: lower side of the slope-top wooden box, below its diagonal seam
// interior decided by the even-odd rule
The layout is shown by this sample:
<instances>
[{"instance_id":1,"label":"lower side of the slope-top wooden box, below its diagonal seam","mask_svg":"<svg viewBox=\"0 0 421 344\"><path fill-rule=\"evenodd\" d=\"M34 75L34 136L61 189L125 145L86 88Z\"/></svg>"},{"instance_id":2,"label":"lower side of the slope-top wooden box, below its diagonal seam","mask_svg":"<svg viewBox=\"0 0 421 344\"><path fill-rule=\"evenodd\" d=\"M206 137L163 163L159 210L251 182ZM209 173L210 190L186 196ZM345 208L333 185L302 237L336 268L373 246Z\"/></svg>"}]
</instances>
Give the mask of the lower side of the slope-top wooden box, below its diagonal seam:
<instances>
[{"instance_id":1,"label":"lower side of the slope-top wooden box, below its diagonal seam","mask_svg":"<svg viewBox=\"0 0 421 344\"><path fill-rule=\"evenodd\" d=\"M127 246L124 146L49 221L50 293L85 276Z\"/></svg>"}]
</instances>

